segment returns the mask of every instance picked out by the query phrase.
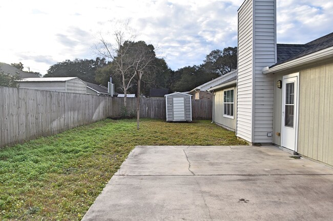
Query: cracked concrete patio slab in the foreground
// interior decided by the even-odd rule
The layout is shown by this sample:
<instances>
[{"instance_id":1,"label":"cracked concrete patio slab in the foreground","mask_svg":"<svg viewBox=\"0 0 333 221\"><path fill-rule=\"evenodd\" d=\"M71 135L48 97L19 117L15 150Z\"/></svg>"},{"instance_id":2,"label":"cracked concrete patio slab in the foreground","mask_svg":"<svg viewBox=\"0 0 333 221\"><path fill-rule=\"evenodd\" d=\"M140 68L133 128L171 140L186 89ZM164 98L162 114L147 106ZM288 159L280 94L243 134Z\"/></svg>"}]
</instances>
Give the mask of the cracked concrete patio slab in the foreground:
<instances>
[{"instance_id":1,"label":"cracked concrete patio slab in the foreground","mask_svg":"<svg viewBox=\"0 0 333 221\"><path fill-rule=\"evenodd\" d=\"M330 220L333 169L275 146L137 146L82 220Z\"/></svg>"}]
</instances>

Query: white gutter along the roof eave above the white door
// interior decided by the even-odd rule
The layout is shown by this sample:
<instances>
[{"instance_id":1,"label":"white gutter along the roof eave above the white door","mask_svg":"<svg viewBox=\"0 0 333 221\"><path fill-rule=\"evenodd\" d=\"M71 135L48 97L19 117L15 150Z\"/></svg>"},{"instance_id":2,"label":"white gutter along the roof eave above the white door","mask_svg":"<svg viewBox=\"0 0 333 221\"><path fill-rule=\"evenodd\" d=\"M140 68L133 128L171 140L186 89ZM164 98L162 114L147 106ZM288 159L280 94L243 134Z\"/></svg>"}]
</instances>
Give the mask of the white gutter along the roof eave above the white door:
<instances>
[{"instance_id":1,"label":"white gutter along the roof eave above the white door","mask_svg":"<svg viewBox=\"0 0 333 221\"><path fill-rule=\"evenodd\" d=\"M296 58L294 60L287 61L285 63L278 64L278 65L270 67L270 68L268 66L264 67L264 68L262 68L262 73L264 75L266 75L267 73L275 73L278 71L283 71L283 70L291 69L294 67L299 67L304 64L322 61L324 59L328 59L328 58L332 58L332 57L333 57L333 47L328 47L328 48L325 48L324 50L321 50L321 51L318 51L318 52L315 52L315 53L312 53L309 55L305 55L303 57Z\"/></svg>"}]
</instances>

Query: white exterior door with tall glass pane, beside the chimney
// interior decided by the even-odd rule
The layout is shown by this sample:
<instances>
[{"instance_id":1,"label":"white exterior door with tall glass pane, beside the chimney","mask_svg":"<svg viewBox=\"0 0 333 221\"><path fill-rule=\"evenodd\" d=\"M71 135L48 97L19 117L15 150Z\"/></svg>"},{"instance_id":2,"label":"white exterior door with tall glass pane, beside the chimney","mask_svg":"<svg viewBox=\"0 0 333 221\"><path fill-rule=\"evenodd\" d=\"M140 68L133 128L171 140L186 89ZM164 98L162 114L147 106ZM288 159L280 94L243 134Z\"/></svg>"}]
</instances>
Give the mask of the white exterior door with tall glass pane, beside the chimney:
<instances>
[{"instance_id":1,"label":"white exterior door with tall glass pane, beside the chimney","mask_svg":"<svg viewBox=\"0 0 333 221\"><path fill-rule=\"evenodd\" d=\"M283 77L282 146L297 151L298 73Z\"/></svg>"}]
</instances>

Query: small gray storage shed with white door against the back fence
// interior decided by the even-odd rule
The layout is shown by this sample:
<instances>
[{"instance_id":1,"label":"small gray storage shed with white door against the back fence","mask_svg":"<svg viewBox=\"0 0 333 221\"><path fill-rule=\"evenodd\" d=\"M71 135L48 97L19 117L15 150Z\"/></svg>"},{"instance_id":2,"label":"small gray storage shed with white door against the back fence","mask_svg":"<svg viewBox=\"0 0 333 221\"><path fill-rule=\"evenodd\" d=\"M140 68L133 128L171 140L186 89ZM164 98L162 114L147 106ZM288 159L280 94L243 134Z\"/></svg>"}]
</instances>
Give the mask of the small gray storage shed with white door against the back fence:
<instances>
[{"instance_id":1,"label":"small gray storage shed with white door against the back fence","mask_svg":"<svg viewBox=\"0 0 333 221\"><path fill-rule=\"evenodd\" d=\"M166 121L192 121L191 94L165 94Z\"/></svg>"}]
</instances>

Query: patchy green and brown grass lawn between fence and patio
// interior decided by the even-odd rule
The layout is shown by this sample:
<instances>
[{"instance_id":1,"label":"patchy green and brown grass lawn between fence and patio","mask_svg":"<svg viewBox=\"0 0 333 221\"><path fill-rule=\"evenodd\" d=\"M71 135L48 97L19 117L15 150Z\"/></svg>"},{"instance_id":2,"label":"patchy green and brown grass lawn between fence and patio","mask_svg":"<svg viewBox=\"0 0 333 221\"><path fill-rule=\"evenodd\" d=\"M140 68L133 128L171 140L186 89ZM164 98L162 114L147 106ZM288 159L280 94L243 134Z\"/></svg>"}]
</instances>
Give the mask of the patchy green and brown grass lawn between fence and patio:
<instances>
[{"instance_id":1,"label":"patchy green and brown grass lawn between fence and patio","mask_svg":"<svg viewBox=\"0 0 333 221\"><path fill-rule=\"evenodd\" d=\"M136 145L244 145L210 121L106 119L0 150L0 220L80 220Z\"/></svg>"}]
</instances>

